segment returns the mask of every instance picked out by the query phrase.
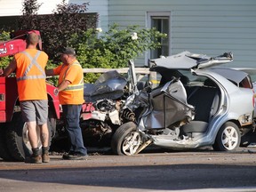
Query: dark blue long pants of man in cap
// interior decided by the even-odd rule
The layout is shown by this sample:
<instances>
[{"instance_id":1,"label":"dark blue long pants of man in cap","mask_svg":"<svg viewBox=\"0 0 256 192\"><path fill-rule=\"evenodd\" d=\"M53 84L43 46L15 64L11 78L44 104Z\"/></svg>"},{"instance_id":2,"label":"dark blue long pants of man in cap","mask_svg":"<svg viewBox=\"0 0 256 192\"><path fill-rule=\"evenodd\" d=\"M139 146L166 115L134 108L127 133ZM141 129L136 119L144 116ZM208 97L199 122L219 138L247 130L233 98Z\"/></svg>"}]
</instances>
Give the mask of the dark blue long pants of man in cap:
<instances>
[{"instance_id":1,"label":"dark blue long pants of man in cap","mask_svg":"<svg viewBox=\"0 0 256 192\"><path fill-rule=\"evenodd\" d=\"M81 153L87 155L87 149L84 147L82 130L79 125L81 108L82 105L62 105L66 130L68 131L71 142L69 153Z\"/></svg>"}]
</instances>

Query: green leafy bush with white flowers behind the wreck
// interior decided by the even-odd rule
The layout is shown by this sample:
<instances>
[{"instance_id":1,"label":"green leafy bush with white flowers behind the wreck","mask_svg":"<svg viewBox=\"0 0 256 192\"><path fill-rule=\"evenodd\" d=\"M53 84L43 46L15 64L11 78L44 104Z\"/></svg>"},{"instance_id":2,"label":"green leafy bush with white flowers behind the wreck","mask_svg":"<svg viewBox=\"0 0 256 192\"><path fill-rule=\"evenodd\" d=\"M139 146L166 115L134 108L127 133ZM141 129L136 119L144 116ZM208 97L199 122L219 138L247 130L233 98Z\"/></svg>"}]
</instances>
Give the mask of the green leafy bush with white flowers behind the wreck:
<instances>
[{"instance_id":1,"label":"green leafy bush with white flowers behind the wreck","mask_svg":"<svg viewBox=\"0 0 256 192\"><path fill-rule=\"evenodd\" d=\"M68 43L77 52L77 59L83 68L124 68L145 51L161 46L160 38L167 37L156 28L129 26L121 29L118 24L100 34L100 28L90 28L83 36L74 34ZM97 76L85 75L86 82L94 82Z\"/></svg>"}]
</instances>

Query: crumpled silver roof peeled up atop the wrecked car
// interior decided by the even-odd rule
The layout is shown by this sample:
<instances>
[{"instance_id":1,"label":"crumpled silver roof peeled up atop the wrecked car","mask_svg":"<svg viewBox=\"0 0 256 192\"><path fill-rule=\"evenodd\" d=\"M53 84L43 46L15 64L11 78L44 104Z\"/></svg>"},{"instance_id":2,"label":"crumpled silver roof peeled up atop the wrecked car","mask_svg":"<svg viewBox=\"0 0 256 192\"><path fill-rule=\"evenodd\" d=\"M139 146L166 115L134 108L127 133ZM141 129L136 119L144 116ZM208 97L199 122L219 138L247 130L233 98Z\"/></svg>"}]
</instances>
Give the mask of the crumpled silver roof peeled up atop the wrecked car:
<instances>
[{"instance_id":1,"label":"crumpled silver roof peeled up atop the wrecked car","mask_svg":"<svg viewBox=\"0 0 256 192\"><path fill-rule=\"evenodd\" d=\"M180 52L168 57L161 57L150 60L153 68L176 68L176 69L190 69L190 68L209 68L223 63L233 61L233 54L231 52L224 52L222 55L216 57L208 57L205 54L197 54L191 52Z\"/></svg>"}]
</instances>

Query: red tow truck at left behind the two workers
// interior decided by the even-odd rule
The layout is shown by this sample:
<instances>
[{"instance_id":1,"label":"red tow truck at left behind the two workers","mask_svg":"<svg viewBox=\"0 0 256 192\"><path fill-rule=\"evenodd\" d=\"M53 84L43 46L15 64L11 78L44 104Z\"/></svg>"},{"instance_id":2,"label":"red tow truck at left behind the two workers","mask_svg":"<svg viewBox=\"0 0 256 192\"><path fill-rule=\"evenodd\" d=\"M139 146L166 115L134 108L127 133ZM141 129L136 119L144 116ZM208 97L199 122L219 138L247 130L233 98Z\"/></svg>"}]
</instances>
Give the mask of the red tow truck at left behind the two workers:
<instances>
[{"instance_id":1,"label":"red tow truck at left behind the two workers","mask_svg":"<svg viewBox=\"0 0 256 192\"><path fill-rule=\"evenodd\" d=\"M0 57L12 56L25 50L26 36L31 32L40 35L37 30L17 31L12 33L11 40L0 42ZM38 45L38 48L42 49L42 41ZM56 121L60 119L60 103L58 95L54 94L54 89L56 87L47 83L49 144L56 132ZM38 143L41 146L40 140ZM16 78L0 77L0 157L4 161L23 161L30 153L28 128L21 119Z\"/></svg>"}]
</instances>

